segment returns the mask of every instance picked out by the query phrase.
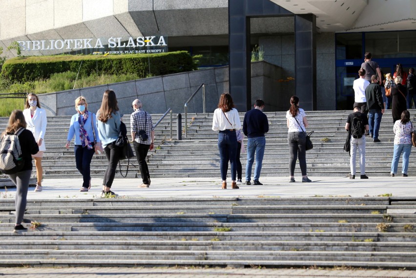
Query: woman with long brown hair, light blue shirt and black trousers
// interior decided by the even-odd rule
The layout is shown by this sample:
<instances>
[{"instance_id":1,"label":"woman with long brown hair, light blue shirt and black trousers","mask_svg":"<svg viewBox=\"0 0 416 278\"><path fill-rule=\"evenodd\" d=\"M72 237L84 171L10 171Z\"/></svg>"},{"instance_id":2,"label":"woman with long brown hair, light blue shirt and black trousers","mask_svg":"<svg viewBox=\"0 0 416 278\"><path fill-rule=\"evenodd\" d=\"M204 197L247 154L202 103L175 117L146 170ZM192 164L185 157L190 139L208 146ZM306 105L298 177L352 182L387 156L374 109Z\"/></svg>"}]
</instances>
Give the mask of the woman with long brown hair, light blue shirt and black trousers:
<instances>
[{"instance_id":1,"label":"woman with long brown hair, light blue shirt and black trousers","mask_svg":"<svg viewBox=\"0 0 416 278\"><path fill-rule=\"evenodd\" d=\"M100 109L97 111L98 134L103 145L108 166L104 173L102 196L115 197L117 194L111 191L117 164L120 160L120 148L115 142L120 134L121 116L117 104L116 93L106 90Z\"/></svg>"}]
</instances>

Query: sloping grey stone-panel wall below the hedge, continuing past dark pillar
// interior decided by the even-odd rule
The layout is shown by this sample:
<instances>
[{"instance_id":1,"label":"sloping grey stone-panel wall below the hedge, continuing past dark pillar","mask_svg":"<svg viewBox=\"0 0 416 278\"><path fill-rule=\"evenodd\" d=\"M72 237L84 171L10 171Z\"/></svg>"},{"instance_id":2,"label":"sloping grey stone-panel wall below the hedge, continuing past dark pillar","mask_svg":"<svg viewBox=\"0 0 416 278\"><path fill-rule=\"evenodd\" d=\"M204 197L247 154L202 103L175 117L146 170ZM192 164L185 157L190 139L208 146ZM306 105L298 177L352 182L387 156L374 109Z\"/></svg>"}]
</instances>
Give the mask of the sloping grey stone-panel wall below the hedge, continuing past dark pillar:
<instances>
[{"instance_id":1,"label":"sloping grey stone-panel wall below the hedge, continuing past dark pillar","mask_svg":"<svg viewBox=\"0 0 416 278\"><path fill-rule=\"evenodd\" d=\"M252 91L256 92L252 95L252 102L262 98L267 104L267 111L284 109L279 107L279 98L276 98L280 93L280 88L276 87L280 69L266 62L257 62L252 63L251 71ZM75 99L81 95L87 100L88 110L96 112L101 106L104 91L112 89L116 92L122 114L132 112L131 103L136 98L142 101L149 113L165 113L172 108L176 114L184 113L185 102L202 83L205 84L206 111L212 112L218 105L220 95L229 92L228 66L41 94L39 100L48 116L75 114ZM188 112L202 111L201 90L189 103Z\"/></svg>"}]
</instances>

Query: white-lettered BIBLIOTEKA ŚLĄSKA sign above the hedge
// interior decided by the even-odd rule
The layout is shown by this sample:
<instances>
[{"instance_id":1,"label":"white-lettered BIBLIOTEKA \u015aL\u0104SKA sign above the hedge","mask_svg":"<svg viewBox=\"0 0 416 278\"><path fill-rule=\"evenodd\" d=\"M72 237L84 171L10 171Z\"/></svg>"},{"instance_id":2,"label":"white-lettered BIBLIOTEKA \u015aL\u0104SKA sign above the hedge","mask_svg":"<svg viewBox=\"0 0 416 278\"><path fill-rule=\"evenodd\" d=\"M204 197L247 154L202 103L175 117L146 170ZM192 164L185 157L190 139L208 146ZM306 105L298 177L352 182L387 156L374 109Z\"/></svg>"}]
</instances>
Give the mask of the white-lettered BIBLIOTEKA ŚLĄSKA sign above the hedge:
<instances>
[{"instance_id":1,"label":"white-lettered BIBLIOTEKA \u015aL\u0104SKA sign above the hedge","mask_svg":"<svg viewBox=\"0 0 416 278\"><path fill-rule=\"evenodd\" d=\"M74 51L90 49L92 52L110 52L110 54L124 53L161 53L167 51L166 37L147 36L137 38L111 37L103 39L68 39L68 40L40 40L18 41L21 51L61 50ZM108 51L106 51L108 50ZM111 53L115 52L115 53Z\"/></svg>"}]
</instances>

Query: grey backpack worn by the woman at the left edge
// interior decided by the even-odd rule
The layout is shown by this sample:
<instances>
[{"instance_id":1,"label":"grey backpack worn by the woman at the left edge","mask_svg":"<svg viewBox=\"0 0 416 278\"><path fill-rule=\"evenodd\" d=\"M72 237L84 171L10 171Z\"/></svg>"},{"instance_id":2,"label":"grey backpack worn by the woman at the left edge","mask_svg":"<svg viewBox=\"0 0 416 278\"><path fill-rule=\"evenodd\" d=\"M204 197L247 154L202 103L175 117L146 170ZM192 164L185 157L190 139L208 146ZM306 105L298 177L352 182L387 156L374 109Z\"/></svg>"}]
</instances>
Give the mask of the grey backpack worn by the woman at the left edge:
<instances>
[{"instance_id":1,"label":"grey backpack worn by the woman at the left edge","mask_svg":"<svg viewBox=\"0 0 416 278\"><path fill-rule=\"evenodd\" d=\"M5 174L15 174L23 168L24 159L21 156L19 135L24 128L19 128L15 134L4 134L0 144L0 171Z\"/></svg>"}]
</instances>

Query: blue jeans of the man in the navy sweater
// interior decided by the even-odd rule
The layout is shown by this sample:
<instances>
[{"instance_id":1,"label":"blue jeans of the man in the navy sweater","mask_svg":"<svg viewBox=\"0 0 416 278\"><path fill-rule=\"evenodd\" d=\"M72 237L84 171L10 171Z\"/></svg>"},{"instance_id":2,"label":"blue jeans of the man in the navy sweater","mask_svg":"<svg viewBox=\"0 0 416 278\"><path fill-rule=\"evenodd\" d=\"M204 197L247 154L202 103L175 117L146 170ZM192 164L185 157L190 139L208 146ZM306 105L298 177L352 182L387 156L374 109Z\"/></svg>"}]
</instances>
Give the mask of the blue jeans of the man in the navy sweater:
<instances>
[{"instance_id":1,"label":"blue jeans of the man in the navy sweater","mask_svg":"<svg viewBox=\"0 0 416 278\"><path fill-rule=\"evenodd\" d=\"M251 169L254 162L254 153L256 155L256 168L254 168L254 180L260 178L260 171L264 156L264 147L266 146L266 137L253 137L247 140L247 164L246 164L246 180L251 179Z\"/></svg>"}]
</instances>

